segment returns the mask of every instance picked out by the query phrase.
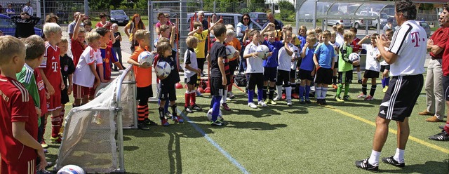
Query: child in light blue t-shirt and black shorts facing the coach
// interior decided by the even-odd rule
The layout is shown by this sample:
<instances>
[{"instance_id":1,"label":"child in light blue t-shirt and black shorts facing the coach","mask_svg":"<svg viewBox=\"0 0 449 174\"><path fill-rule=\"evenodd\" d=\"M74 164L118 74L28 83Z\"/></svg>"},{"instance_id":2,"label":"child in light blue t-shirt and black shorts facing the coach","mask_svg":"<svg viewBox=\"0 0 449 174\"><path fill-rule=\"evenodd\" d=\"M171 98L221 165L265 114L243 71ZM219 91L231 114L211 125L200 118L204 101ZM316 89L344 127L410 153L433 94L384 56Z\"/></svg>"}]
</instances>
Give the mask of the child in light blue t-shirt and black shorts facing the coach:
<instances>
[{"instance_id":1,"label":"child in light blue t-shirt and black shorts facing the coach","mask_svg":"<svg viewBox=\"0 0 449 174\"><path fill-rule=\"evenodd\" d=\"M332 84L333 67L336 57L334 48L329 44L330 32L326 30L321 33L323 43L316 47L314 53L314 63L316 68L315 77L315 95L318 105L328 105L326 102L326 93L328 85Z\"/></svg>"}]
</instances>

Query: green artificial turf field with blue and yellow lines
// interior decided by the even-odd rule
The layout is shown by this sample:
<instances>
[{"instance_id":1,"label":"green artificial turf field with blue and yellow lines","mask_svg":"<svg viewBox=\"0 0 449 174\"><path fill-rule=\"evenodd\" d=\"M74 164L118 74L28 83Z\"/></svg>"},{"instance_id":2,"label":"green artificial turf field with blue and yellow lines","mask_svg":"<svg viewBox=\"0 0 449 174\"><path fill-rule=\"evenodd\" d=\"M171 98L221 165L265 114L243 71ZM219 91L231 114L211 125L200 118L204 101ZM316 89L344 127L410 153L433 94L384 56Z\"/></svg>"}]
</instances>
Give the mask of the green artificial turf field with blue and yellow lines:
<instances>
[{"instance_id":1,"label":"green artificial turf field with blue and yellow lines","mask_svg":"<svg viewBox=\"0 0 449 174\"><path fill-rule=\"evenodd\" d=\"M288 107L283 100L251 109L246 95L233 88L236 98L228 101L232 111L222 110L229 122L223 127L210 126L207 121L210 96L197 97L204 109L182 113L185 123L169 121L168 127L123 131L126 173L369 173L356 168L354 161L366 159L371 152L374 121L384 95L380 79L377 82L371 101L356 99L361 93L358 83L351 84L351 102L335 102L336 90L330 88L326 107L314 100L307 105L293 100ZM184 93L185 89L177 90L177 109L183 109ZM417 114L426 108L425 103L423 88L409 120L406 167L381 161L380 172L449 173L449 142L428 139L441 131L438 126L443 123L428 123L424 121L428 116ZM67 105L66 114L71 107ZM157 107L149 103L149 116L159 122ZM50 123L47 130L51 130ZM46 131L47 141L50 132ZM59 146L49 145L47 160L55 162ZM382 157L394 155L395 150L396 123L391 122Z\"/></svg>"}]
</instances>

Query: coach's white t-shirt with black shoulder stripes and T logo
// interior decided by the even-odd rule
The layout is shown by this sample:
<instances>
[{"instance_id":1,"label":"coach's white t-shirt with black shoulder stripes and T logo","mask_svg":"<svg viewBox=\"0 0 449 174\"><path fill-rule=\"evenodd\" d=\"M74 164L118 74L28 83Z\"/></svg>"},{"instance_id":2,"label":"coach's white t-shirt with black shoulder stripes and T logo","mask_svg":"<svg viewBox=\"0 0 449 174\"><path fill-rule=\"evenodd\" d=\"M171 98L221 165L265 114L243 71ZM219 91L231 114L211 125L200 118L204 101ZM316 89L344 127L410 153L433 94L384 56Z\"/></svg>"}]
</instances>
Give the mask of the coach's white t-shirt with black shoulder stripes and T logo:
<instances>
[{"instance_id":1,"label":"coach's white t-shirt with black shoulder stripes and T logo","mask_svg":"<svg viewBox=\"0 0 449 174\"><path fill-rule=\"evenodd\" d=\"M390 65L391 76L408 76L424 73L427 51L427 34L415 21L407 20L394 32L389 50L398 55Z\"/></svg>"}]
</instances>

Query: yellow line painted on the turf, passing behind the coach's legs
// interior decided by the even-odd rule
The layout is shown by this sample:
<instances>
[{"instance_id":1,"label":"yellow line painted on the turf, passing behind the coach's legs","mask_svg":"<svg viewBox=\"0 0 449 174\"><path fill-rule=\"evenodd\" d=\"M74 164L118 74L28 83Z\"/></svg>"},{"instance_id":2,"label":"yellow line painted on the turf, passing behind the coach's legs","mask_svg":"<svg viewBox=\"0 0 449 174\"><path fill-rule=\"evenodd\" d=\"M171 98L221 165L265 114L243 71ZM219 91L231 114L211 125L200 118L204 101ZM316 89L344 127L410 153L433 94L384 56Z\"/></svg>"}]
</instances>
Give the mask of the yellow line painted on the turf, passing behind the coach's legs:
<instances>
[{"instance_id":1,"label":"yellow line painted on the turf, passing behind the coach's legs","mask_svg":"<svg viewBox=\"0 0 449 174\"><path fill-rule=\"evenodd\" d=\"M367 124L369 124L369 125L371 125L371 126L376 126L376 123L375 123L375 122L369 121L369 120L367 120L367 119L363 119L363 118L361 118L360 116L356 116L356 115L354 115L354 114L350 114L350 113L348 113L348 112L344 112L344 111L342 111L342 110L340 110L340 109L336 109L335 107L328 107L328 106L326 106L326 108L331 109L331 110L333 110L333 111L335 111L335 112L338 112L338 113L340 113L340 114L343 114L344 116L348 116L348 117L351 117L351 118L356 119L356 120L358 120L358 121L362 121L363 123L367 123ZM388 131L389 131L390 133L394 133L394 134L397 135L397 131L394 130L394 129L392 129L392 128L389 128ZM434 144L431 144L431 143L429 143L429 142L425 142L424 140L420 140L419 138L415 138L415 137L413 137L413 136L409 136L408 139L409 139L409 140L412 140L412 141L414 141L414 142L417 142L417 143L419 143L419 144L421 144L421 145L424 145L424 146L430 147L430 148L432 148L432 149L436 149L436 150L438 150L438 151L441 151L441 152L444 152L444 153L446 153L446 154L449 154L449 149L445 149L445 148L443 148L443 147L439 147L439 146L434 145Z\"/></svg>"}]
</instances>

